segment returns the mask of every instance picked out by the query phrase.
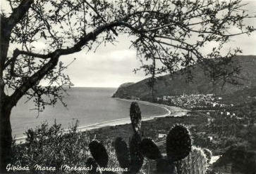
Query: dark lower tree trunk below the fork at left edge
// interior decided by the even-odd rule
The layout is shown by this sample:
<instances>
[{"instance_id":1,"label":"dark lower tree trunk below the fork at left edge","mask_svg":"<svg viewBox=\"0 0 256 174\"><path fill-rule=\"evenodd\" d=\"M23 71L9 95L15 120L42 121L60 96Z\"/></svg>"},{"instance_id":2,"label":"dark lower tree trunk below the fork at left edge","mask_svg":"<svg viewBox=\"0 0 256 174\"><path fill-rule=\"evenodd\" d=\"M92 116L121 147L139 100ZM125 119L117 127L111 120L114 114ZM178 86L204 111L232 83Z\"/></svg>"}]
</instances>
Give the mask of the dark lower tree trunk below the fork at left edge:
<instances>
[{"instance_id":1,"label":"dark lower tree trunk below the fork at left edge","mask_svg":"<svg viewBox=\"0 0 256 174\"><path fill-rule=\"evenodd\" d=\"M2 97L2 96L1 96ZM6 165L11 162L11 107L7 107L6 100L0 103L0 173L5 173Z\"/></svg>"}]
</instances>

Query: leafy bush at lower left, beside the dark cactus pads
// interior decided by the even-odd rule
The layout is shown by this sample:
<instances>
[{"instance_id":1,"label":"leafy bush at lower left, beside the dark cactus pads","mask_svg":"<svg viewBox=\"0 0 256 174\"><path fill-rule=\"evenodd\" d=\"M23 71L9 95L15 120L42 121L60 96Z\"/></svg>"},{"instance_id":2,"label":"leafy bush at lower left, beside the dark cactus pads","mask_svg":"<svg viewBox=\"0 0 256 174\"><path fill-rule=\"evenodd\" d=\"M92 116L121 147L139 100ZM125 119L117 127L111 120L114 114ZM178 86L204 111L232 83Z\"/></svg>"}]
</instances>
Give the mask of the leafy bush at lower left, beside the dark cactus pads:
<instances>
[{"instance_id":1,"label":"leafy bush at lower left, beside the dark cactus pads","mask_svg":"<svg viewBox=\"0 0 256 174\"><path fill-rule=\"evenodd\" d=\"M85 167L86 160L91 156L88 149L90 138L87 133L77 131L78 121L68 131L56 122L49 126L42 123L35 129L26 131L26 143L13 145L13 166L28 166L31 173L58 173L61 166ZM111 167L118 166L111 140L105 143ZM36 170L43 167L55 167L56 170ZM85 173L85 170L61 170L61 173Z\"/></svg>"}]
</instances>

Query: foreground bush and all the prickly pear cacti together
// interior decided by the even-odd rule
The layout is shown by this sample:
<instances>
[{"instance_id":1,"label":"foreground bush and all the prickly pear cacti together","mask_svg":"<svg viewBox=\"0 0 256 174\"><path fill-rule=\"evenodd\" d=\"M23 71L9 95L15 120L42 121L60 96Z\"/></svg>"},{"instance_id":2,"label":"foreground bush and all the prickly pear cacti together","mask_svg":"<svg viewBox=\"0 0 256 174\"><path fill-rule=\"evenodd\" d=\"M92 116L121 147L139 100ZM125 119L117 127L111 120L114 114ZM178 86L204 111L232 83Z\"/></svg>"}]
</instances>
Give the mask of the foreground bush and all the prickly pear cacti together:
<instances>
[{"instance_id":1,"label":"foreground bush and all the prickly pear cacti together","mask_svg":"<svg viewBox=\"0 0 256 174\"><path fill-rule=\"evenodd\" d=\"M35 130L26 132L27 143L13 144L15 155L12 164L28 166L30 171L27 173L100 173L99 168L102 173L207 172L211 157L207 154L209 150L193 147L185 126L175 125L171 128L166 137L165 154L154 140L142 136L140 108L136 102L131 104L130 118L133 135L128 145L121 137L113 142L108 138L101 142L92 139L88 133L77 132L77 122L68 133L64 133L59 124L48 126L43 123ZM200 170L191 166L194 164ZM63 170L63 165L76 166L76 169L87 167L90 170ZM37 166L45 170L38 170Z\"/></svg>"}]
</instances>

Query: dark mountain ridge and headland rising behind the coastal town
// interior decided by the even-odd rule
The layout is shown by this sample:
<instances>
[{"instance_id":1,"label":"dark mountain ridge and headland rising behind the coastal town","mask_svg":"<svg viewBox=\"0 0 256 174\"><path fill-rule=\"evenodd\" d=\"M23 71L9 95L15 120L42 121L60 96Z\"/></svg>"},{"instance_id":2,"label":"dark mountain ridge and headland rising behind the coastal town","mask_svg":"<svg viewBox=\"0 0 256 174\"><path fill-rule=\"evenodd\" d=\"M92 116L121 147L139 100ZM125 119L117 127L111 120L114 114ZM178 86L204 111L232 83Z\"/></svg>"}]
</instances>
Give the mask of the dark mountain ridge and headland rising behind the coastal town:
<instances>
[{"instance_id":1,"label":"dark mountain ridge and headland rising behind the coastal town","mask_svg":"<svg viewBox=\"0 0 256 174\"><path fill-rule=\"evenodd\" d=\"M182 95L197 94L197 93L215 93L224 95L242 90L243 88L250 88L256 86L256 55L238 55L233 58L235 65L241 67L239 77L242 78L240 82L243 85L234 86L226 83L221 89L221 84L217 84L214 88L210 83L209 78L205 76L202 69L195 65L192 70L193 82L186 82L186 74L173 74L159 76L155 83L155 97L163 95ZM144 79L138 83L125 83L119 86L114 98L141 98L142 100L151 100L151 88L147 85L149 79ZM128 84L128 85L127 85Z\"/></svg>"}]
</instances>

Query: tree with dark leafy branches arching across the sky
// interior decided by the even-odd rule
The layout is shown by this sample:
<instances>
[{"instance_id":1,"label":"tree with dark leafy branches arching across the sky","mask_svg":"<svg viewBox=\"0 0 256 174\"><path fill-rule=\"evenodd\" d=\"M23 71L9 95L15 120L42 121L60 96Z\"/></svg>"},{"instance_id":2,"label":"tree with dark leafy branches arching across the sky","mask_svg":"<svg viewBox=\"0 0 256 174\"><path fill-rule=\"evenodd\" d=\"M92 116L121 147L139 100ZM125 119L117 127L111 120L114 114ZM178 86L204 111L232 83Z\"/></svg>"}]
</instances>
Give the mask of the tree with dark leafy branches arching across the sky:
<instances>
[{"instance_id":1,"label":"tree with dark leafy branches arching across the sky","mask_svg":"<svg viewBox=\"0 0 256 174\"><path fill-rule=\"evenodd\" d=\"M18 100L27 95L39 110L62 102L62 86L71 83L63 74L67 66L60 62L62 55L90 51L126 34L146 74L176 72L197 63L213 79L233 81L230 74L238 69L226 67L240 49L225 55L221 49L231 36L253 31L243 25L248 15L240 0L8 0L8 4L11 13L1 12L2 169L11 154L10 116ZM231 27L240 32L230 33ZM42 42L46 46L39 51ZM210 42L219 46L204 55L202 47ZM40 86L40 81L49 86Z\"/></svg>"}]
</instances>

